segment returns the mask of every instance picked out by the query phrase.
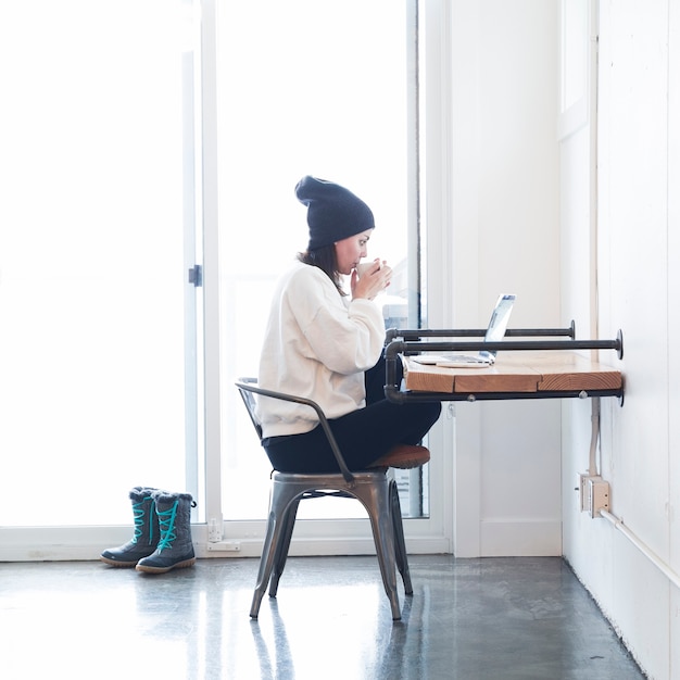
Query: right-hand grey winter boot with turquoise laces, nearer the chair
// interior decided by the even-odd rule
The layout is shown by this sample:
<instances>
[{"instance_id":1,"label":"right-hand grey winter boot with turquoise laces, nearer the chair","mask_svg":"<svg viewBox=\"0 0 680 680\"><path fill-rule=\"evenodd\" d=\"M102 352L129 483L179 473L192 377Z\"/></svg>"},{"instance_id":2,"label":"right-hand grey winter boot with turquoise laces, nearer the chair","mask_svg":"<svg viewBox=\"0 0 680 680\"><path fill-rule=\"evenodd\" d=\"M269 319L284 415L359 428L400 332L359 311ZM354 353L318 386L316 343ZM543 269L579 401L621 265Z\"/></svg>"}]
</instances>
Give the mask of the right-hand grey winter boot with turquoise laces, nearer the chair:
<instances>
[{"instance_id":1,"label":"right-hand grey winter boot with turquoise laces, nearer the chair","mask_svg":"<svg viewBox=\"0 0 680 680\"><path fill-rule=\"evenodd\" d=\"M138 571L165 574L171 569L190 567L196 563L191 542L191 508L196 507L188 493L155 491L161 540L153 554L137 563Z\"/></svg>"}]
</instances>

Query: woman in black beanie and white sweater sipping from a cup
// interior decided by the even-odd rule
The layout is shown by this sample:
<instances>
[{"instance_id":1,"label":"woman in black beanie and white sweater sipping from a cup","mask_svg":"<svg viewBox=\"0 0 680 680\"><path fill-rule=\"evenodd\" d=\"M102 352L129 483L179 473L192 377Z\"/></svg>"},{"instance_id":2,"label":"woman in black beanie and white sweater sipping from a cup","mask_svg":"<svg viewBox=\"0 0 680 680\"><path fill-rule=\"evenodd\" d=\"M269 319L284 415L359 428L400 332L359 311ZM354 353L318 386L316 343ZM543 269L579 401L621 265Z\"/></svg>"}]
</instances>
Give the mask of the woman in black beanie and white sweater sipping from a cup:
<instances>
[{"instance_id":1,"label":"woman in black beanie and white sweater sipping from a cup","mask_svg":"<svg viewBox=\"0 0 680 680\"><path fill-rule=\"evenodd\" d=\"M281 277L260 361L261 388L318 403L351 470L417 467L418 445L441 404L393 404L385 398L385 322L374 298L392 269L376 260L363 275L375 228L370 209L348 189L315 177L295 187L307 206L307 250ZM351 294L342 288L350 276ZM262 444L275 469L337 473L338 464L312 408L261 396Z\"/></svg>"}]
</instances>

